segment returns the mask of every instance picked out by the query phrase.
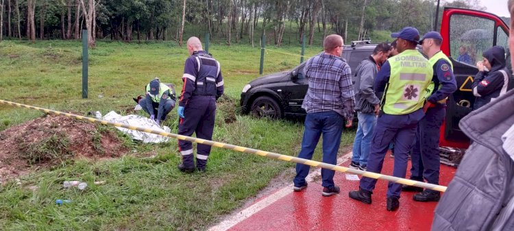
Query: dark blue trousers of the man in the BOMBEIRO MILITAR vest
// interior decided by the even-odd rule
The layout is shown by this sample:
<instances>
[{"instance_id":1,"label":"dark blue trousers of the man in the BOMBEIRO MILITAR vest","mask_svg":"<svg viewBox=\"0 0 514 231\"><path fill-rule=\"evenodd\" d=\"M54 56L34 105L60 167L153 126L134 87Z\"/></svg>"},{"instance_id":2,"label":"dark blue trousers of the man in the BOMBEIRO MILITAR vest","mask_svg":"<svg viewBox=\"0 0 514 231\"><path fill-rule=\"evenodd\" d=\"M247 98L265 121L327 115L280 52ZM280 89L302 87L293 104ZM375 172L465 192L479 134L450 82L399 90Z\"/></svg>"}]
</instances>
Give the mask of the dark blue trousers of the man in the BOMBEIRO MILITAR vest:
<instances>
[{"instance_id":1,"label":"dark blue trousers of the man in the BOMBEIRO MILITAR vest","mask_svg":"<svg viewBox=\"0 0 514 231\"><path fill-rule=\"evenodd\" d=\"M380 114L375 127L367 171L380 173L384 164L384 157L389 149L389 143L394 141L395 162L393 175L398 178L405 178L407 172L408 152L413 147L417 123L423 118L423 110L417 110L411 114L393 115ZM362 178L360 188L373 191L376 184L373 178ZM389 182L387 197L400 198L402 184Z\"/></svg>"}]
</instances>

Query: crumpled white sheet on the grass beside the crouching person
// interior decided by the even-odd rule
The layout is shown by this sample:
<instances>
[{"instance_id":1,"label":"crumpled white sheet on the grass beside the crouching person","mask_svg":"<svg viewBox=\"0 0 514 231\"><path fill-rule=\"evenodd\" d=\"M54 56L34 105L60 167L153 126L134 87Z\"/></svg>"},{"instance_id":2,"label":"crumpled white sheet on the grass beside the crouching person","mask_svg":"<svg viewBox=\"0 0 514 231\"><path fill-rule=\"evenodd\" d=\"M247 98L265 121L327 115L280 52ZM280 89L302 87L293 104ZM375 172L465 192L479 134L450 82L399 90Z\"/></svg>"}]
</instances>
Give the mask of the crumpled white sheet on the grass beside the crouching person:
<instances>
[{"instance_id":1,"label":"crumpled white sheet on the grass beside the crouching person","mask_svg":"<svg viewBox=\"0 0 514 231\"><path fill-rule=\"evenodd\" d=\"M103 119L104 121L109 121L112 123L121 123L124 125L130 125L134 127L147 127L151 130L156 130L159 132L171 132L171 129L167 126L160 127L157 125L154 121L151 119L148 119L147 117L142 117L137 114L129 114L126 116L121 116L120 114L111 111L107 113L104 117L101 116L100 112L96 112L97 119ZM156 134L151 134L147 132L139 132L136 130L130 130L123 127L116 127L121 132L127 134L128 136L132 137L134 140L143 141L143 143L163 143L168 142L169 137L166 136L160 136Z\"/></svg>"}]
</instances>

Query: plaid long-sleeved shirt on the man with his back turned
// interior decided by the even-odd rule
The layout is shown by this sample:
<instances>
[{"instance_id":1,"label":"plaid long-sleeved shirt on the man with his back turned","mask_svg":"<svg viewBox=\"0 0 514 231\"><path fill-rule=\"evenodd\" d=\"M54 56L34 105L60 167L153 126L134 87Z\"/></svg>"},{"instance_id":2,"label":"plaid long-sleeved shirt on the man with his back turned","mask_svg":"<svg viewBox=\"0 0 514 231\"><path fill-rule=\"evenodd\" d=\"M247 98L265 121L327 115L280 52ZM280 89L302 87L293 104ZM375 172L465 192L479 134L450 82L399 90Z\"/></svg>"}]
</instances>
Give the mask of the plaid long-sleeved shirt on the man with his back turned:
<instances>
[{"instance_id":1,"label":"plaid long-sleeved shirt on the man with his back turned","mask_svg":"<svg viewBox=\"0 0 514 231\"><path fill-rule=\"evenodd\" d=\"M302 108L307 113L334 111L353 120L355 93L345 59L321 52L307 60L304 73L309 88Z\"/></svg>"}]
</instances>

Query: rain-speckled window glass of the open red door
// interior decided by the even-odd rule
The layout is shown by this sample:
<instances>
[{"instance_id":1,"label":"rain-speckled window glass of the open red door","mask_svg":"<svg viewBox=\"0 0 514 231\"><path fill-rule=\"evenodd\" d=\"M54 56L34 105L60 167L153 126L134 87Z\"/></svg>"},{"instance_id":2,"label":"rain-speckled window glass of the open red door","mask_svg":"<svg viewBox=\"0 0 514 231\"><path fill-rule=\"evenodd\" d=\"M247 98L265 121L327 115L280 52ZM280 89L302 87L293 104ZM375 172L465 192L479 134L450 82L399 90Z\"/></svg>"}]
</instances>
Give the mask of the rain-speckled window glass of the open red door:
<instances>
[{"instance_id":1,"label":"rain-speckled window glass of the open red door","mask_svg":"<svg viewBox=\"0 0 514 231\"><path fill-rule=\"evenodd\" d=\"M493 47L495 22L490 19L454 14L450 18L450 56L474 66L482 51Z\"/></svg>"}]
</instances>

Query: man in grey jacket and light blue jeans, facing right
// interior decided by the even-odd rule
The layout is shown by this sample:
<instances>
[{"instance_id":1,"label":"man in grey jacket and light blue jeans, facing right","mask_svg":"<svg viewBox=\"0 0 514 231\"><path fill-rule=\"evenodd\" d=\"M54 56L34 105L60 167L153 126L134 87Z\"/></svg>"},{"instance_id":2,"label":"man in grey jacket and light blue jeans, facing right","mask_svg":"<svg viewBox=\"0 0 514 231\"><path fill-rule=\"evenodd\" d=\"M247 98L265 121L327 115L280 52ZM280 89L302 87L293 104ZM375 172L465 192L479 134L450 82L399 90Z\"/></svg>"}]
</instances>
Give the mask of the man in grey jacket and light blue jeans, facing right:
<instances>
[{"instance_id":1,"label":"man in grey jacket and light blue jeans, facing right","mask_svg":"<svg viewBox=\"0 0 514 231\"><path fill-rule=\"evenodd\" d=\"M358 126L352 151L352 163L350 163L352 169L366 171L376 115L380 112L380 99L375 95L373 84L380 66L387 60L390 53L391 46L380 43L375 47L373 54L360 62L356 69L354 89Z\"/></svg>"}]
</instances>

